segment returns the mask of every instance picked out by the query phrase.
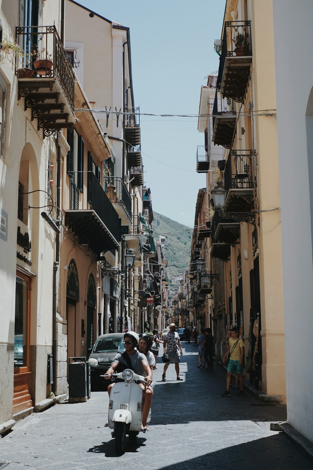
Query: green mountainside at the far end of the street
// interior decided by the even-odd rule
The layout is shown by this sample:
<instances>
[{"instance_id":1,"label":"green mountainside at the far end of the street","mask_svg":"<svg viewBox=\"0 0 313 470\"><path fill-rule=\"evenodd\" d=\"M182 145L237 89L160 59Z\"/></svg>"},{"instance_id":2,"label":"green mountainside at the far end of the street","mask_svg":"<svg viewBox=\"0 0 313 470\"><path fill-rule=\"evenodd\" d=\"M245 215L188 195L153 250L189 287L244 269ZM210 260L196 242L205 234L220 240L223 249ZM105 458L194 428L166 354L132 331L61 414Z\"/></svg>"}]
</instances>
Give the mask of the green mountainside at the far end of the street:
<instances>
[{"instance_id":1,"label":"green mountainside at the far end of the street","mask_svg":"<svg viewBox=\"0 0 313 470\"><path fill-rule=\"evenodd\" d=\"M152 229L154 240L165 237L165 259L168 261L168 294L178 290L183 270L188 267L191 251L192 228L153 211Z\"/></svg>"}]
</instances>

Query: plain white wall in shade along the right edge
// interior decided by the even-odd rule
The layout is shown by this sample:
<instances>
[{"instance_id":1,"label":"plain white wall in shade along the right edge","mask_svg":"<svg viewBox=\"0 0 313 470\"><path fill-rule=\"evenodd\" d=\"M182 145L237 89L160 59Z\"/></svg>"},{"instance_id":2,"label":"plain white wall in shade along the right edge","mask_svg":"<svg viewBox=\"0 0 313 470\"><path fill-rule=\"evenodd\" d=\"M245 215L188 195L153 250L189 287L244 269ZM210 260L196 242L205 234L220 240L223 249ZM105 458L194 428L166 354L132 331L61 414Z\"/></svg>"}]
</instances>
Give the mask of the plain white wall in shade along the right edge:
<instances>
[{"instance_id":1,"label":"plain white wall in shade along the right edge","mask_svg":"<svg viewBox=\"0 0 313 470\"><path fill-rule=\"evenodd\" d=\"M313 2L273 0L273 9L287 416L293 427L313 440L313 376L306 360L311 357L313 331L313 200L310 202L306 133L313 86ZM310 183L312 188L313 179Z\"/></svg>"}]
</instances>

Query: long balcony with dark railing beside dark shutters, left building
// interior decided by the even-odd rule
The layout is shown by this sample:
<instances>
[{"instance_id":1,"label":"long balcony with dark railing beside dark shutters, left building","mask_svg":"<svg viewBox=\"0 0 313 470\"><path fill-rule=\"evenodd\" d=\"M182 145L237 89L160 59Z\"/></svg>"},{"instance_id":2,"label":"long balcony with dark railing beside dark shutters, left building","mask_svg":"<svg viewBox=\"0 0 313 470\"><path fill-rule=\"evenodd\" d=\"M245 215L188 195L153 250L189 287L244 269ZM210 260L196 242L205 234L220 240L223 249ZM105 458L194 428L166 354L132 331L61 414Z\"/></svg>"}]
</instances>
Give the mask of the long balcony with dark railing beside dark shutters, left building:
<instances>
[{"instance_id":1,"label":"long balcony with dark railing beside dark shutters, left building","mask_svg":"<svg viewBox=\"0 0 313 470\"><path fill-rule=\"evenodd\" d=\"M98 260L107 251L117 250L121 240L121 219L96 176L88 172L85 195L79 192L74 172L69 191L65 225L76 235L79 244L88 245Z\"/></svg>"}]
</instances>

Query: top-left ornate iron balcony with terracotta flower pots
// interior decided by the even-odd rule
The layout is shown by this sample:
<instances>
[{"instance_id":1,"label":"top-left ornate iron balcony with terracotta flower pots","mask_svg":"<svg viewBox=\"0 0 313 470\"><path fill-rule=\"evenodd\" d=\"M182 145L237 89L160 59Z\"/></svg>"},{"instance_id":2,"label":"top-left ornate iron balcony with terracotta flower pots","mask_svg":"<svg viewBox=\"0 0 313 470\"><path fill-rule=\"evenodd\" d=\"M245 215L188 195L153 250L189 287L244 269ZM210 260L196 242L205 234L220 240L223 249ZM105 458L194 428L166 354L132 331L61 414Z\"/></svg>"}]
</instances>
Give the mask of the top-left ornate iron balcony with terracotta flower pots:
<instances>
[{"instance_id":1,"label":"top-left ornate iron balcony with terracotta flower pots","mask_svg":"<svg viewBox=\"0 0 313 470\"><path fill-rule=\"evenodd\" d=\"M73 128L75 75L55 26L18 26L16 44L23 51L15 63L17 97L25 98L38 131L46 137Z\"/></svg>"}]
</instances>

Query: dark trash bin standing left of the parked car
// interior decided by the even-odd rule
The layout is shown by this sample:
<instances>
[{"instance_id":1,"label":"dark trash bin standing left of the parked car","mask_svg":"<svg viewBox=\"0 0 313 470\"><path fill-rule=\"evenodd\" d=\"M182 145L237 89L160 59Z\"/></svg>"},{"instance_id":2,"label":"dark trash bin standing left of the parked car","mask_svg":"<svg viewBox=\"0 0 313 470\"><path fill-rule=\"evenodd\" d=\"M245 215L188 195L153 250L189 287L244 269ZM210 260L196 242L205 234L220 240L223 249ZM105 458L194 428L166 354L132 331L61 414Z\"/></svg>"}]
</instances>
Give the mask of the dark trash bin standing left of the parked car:
<instances>
[{"instance_id":1,"label":"dark trash bin standing left of the parked car","mask_svg":"<svg viewBox=\"0 0 313 470\"><path fill-rule=\"evenodd\" d=\"M85 357L69 357L69 402L87 401L90 398L90 367L88 366Z\"/></svg>"}]
</instances>

